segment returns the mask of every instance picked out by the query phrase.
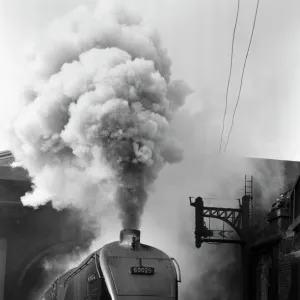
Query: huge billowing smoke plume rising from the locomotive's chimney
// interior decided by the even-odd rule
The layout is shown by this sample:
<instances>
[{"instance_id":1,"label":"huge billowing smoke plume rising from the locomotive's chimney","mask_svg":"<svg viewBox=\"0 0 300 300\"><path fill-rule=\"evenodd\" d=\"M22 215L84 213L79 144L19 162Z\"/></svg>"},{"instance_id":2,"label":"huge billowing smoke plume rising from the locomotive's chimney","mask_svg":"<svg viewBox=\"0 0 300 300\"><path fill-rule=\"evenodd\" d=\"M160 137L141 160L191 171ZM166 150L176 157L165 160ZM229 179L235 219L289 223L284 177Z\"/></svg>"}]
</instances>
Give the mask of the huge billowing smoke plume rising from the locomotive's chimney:
<instances>
[{"instance_id":1,"label":"huge billowing smoke plume rising from the locomotive's chimney","mask_svg":"<svg viewBox=\"0 0 300 300\"><path fill-rule=\"evenodd\" d=\"M170 122L191 92L170 80L158 34L123 9L81 7L53 23L29 59L11 130L35 185L23 204L93 211L116 202L123 227L139 227L158 172L182 157Z\"/></svg>"}]
</instances>

